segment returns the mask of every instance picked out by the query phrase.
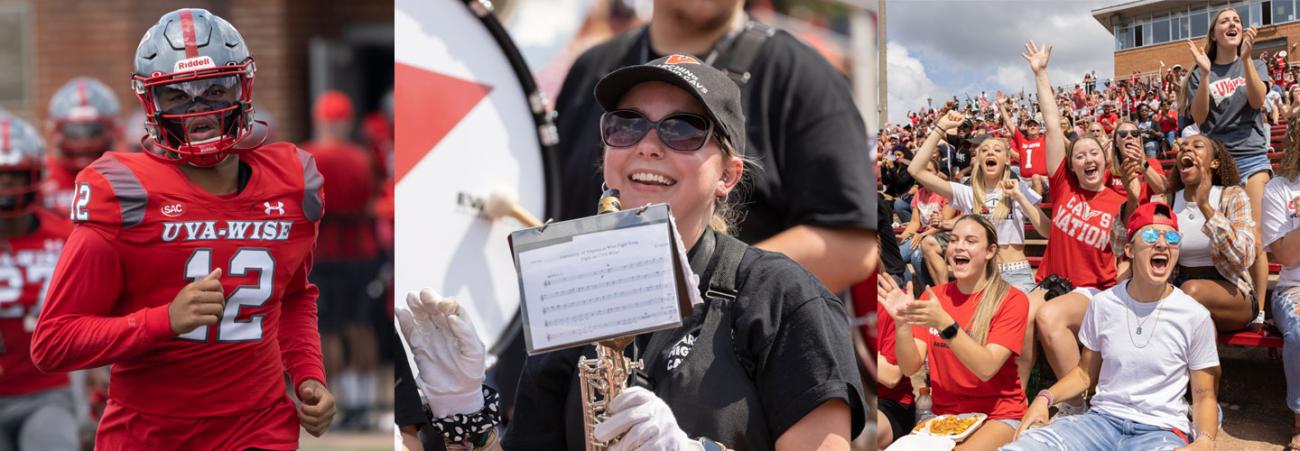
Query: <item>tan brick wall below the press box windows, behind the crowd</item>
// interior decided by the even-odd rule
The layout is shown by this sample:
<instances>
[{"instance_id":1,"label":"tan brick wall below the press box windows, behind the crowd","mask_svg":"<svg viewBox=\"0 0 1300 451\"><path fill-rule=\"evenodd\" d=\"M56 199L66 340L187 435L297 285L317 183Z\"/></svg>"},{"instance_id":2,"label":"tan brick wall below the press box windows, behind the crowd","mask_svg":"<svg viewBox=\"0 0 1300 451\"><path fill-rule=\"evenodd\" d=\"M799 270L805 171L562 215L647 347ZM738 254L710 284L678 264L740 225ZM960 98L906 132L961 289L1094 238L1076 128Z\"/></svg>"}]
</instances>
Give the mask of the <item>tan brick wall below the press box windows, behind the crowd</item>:
<instances>
[{"instance_id":1,"label":"tan brick wall below the press box windows, behind the crowd","mask_svg":"<svg viewBox=\"0 0 1300 451\"><path fill-rule=\"evenodd\" d=\"M1291 43L1300 42L1300 22L1271 25L1266 27L1260 27L1260 32L1256 35L1254 42L1258 56L1261 43L1271 43L1274 40L1282 40L1280 47L1269 47L1268 49L1282 49L1283 47L1290 48ZM1205 36L1200 36L1193 40L1196 45L1205 45ZM1300 61L1300 55L1290 55L1294 52L1288 51L1288 60ZM1148 45L1140 48L1130 48L1124 51L1115 52L1115 78L1127 79L1134 71L1148 73L1160 69L1160 61L1164 60L1165 65L1173 68L1175 64L1183 65L1183 68L1193 68L1196 64L1192 61L1192 53L1187 49L1187 40L1178 40L1164 43L1160 45ZM1105 79L1105 77L1102 77Z\"/></svg>"}]
</instances>

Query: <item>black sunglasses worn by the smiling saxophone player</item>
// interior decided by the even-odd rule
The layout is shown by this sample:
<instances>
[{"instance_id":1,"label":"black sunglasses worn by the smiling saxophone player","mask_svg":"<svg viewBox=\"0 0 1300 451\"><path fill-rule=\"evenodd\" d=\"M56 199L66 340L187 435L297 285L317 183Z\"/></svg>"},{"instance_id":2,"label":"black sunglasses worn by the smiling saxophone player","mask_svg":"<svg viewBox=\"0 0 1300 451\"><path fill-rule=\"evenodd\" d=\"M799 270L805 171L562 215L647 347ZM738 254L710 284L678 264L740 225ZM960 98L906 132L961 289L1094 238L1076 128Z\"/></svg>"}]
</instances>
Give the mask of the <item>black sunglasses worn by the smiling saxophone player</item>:
<instances>
[{"instance_id":1,"label":"black sunglasses worn by the smiling saxophone player","mask_svg":"<svg viewBox=\"0 0 1300 451\"><path fill-rule=\"evenodd\" d=\"M694 152L705 147L714 122L693 113L672 113L651 121L633 109L616 109L601 116L601 142L608 147L632 147L654 129L659 142L673 151Z\"/></svg>"}]
</instances>

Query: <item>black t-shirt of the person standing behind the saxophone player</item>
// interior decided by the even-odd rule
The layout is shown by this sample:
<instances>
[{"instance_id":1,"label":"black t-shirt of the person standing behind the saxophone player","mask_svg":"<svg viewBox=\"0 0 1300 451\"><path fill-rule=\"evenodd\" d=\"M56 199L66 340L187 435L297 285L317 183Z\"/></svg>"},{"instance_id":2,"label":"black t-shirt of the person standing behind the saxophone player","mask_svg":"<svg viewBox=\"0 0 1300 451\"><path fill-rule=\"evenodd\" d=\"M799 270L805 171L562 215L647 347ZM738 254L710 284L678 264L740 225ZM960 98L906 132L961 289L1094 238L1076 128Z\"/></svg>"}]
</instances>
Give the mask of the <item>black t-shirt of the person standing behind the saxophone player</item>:
<instances>
[{"instance_id":1,"label":"black t-shirt of the person standing behind the saxophone player","mask_svg":"<svg viewBox=\"0 0 1300 451\"><path fill-rule=\"evenodd\" d=\"M559 220L590 216L601 196L599 120L595 82L615 69L656 57L647 29L602 43L577 58L555 100L560 144ZM741 87L749 148L762 168L746 168L746 185L732 199L744 220L737 238L757 243L797 225L874 229L875 175L867 130L848 81L811 47L777 30L763 43ZM558 208L556 208L558 207Z\"/></svg>"}]
</instances>

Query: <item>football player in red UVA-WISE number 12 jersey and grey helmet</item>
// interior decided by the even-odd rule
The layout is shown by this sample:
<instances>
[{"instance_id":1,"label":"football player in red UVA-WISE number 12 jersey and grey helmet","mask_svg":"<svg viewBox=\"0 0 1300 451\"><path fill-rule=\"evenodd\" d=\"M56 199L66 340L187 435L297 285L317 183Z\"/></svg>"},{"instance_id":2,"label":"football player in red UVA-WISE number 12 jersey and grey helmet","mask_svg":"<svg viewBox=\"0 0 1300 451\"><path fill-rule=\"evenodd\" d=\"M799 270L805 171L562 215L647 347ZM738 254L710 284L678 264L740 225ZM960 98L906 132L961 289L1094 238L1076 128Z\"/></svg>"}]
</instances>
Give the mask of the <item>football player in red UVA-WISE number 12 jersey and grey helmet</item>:
<instances>
[{"instance_id":1,"label":"football player in red UVA-WISE number 12 jersey and grey helmet","mask_svg":"<svg viewBox=\"0 0 1300 451\"><path fill-rule=\"evenodd\" d=\"M255 133L254 71L225 19L164 14L134 61L146 151L77 177L31 354L47 372L113 365L96 448L291 450L299 424L333 420L307 281L321 175Z\"/></svg>"}]
</instances>

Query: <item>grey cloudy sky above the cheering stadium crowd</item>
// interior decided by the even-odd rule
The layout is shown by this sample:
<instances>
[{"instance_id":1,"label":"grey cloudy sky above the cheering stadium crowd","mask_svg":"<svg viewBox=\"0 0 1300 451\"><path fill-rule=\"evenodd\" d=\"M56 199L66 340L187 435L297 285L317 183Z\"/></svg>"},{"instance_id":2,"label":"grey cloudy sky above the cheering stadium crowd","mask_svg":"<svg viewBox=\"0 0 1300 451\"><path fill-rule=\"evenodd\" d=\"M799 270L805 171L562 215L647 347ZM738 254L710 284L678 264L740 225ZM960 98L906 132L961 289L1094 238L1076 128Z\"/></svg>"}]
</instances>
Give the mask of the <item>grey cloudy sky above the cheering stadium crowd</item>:
<instances>
[{"instance_id":1,"label":"grey cloudy sky above the cheering stadium crowd","mask_svg":"<svg viewBox=\"0 0 1300 451\"><path fill-rule=\"evenodd\" d=\"M939 104L980 91L1032 92L1020 57L1028 39L1053 45L1053 84L1076 83L1088 70L1112 77L1114 38L1091 10L1123 1L889 0L889 121L924 107L927 96Z\"/></svg>"}]
</instances>

